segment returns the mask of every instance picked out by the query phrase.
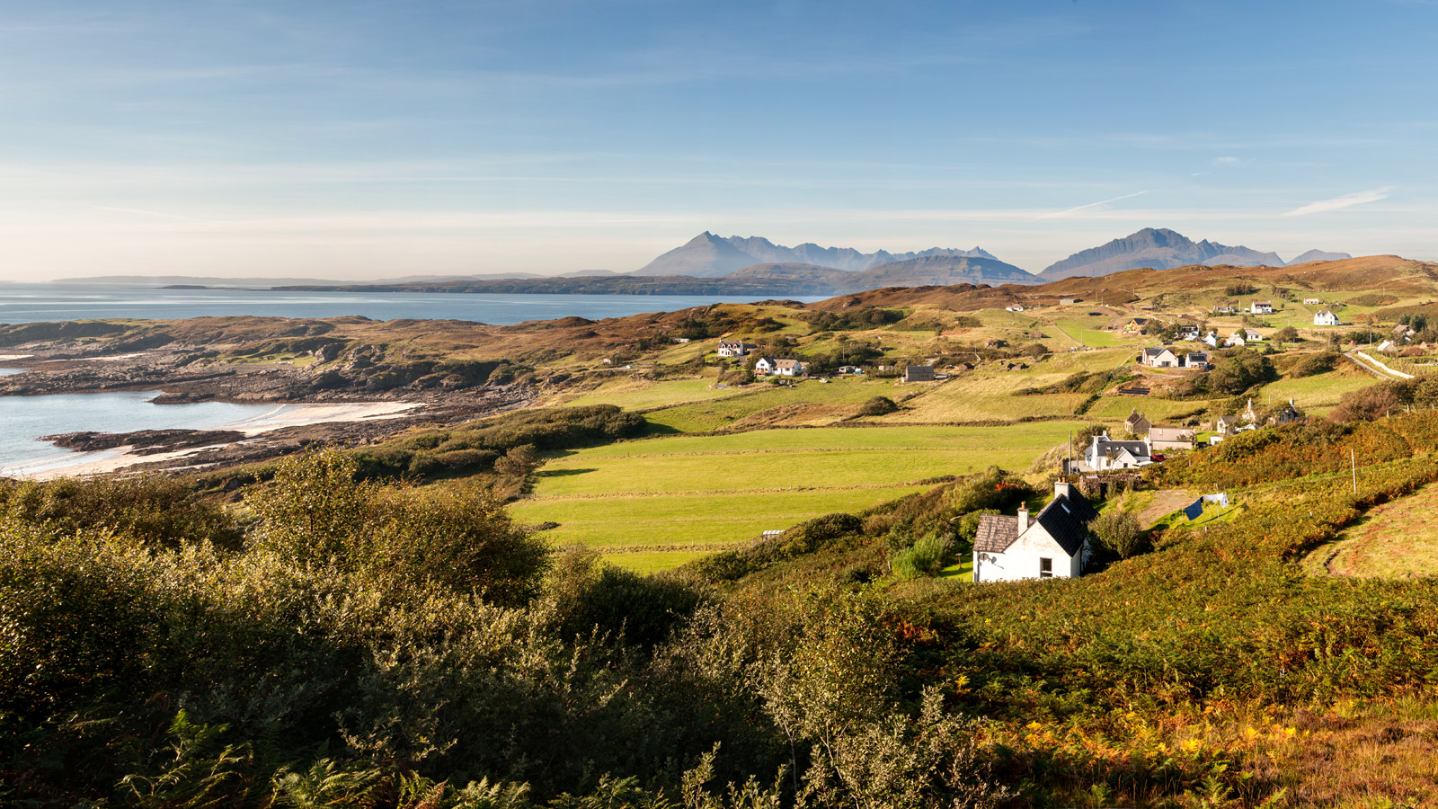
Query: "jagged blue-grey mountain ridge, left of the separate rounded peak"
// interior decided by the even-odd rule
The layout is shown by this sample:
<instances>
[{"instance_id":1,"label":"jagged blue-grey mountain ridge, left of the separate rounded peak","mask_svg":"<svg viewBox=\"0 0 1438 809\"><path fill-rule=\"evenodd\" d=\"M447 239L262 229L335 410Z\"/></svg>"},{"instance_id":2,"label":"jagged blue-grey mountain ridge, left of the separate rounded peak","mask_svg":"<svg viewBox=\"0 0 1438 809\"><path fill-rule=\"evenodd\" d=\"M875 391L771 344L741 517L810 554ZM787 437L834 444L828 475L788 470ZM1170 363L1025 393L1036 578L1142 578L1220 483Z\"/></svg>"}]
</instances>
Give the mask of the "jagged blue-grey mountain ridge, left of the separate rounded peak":
<instances>
[{"instance_id":1,"label":"jagged blue-grey mountain ridge, left of the separate rounded peak","mask_svg":"<svg viewBox=\"0 0 1438 809\"><path fill-rule=\"evenodd\" d=\"M974 248L971 250L930 248L928 250L912 253L890 253L889 250L861 253L853 248L821 248L812 242L807 242L797 248L785 248L782 245L775 245L762 236L729 236L725 239L705 230L683 246L674 248L673 250L669 250L637 269L634 275L689 275L692 278L718 278L756 263L804 263L843 269L847 272L861 272L886 263L926 256L959 256L998 261L992 253L981 248Z\"/></svg>"}]
</instances>

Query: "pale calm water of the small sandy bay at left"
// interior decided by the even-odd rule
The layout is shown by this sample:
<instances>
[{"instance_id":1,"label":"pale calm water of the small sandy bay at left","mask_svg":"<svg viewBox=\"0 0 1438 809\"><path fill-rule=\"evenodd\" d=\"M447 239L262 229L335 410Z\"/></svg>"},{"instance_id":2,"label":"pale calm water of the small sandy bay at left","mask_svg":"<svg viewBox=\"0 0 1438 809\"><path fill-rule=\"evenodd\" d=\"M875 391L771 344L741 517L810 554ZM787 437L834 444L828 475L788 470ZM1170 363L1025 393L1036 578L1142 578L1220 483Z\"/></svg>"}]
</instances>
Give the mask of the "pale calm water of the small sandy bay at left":
<instances>
[{"instance_id":1,"label":"pale calm water of the small sandy bay at left","mask_svg":"<svg viewBox=\"0 0 1438 809\"><path fill-rule=\"evenodd\" d=\"M73 452L39 440L42 435L96 430L131 432L171 428L211 429L280 415L285 404L194 402L152 404L160 392L53 393L0 396L0 474L42 472L70 464L99 461L115 451Z\"/></svg>"}]
</instances>

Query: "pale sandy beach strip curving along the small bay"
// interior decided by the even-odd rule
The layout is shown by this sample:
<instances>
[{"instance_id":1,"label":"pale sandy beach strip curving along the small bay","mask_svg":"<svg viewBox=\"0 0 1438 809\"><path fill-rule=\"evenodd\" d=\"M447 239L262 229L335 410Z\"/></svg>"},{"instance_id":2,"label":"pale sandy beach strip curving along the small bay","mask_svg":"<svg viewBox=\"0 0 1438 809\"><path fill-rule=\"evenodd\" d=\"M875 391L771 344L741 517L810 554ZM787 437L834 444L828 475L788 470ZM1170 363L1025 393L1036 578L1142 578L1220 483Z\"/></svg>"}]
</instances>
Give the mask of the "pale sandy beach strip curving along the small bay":
<instances>
[{"instance_id":1,"label":"pale sandy beach strip curving along the small bay","mask_svg":"<svg viewBox=\"0 0 1438 809\"><path fill-rule=\"evenodd\" d=\"M420 407L413 402L358 402L342 404L276 404L272 410L252 416L239 422L219 426L221 430L237 430L247 438L276 430L305 425L319 425L326 422L358 422L375 419L393 419L406 410ZM206 449L217 446L193 446L175 452L160 452L152 455L137 455L128 446L105 449L99 452L76 452L68 458L49 459L36 464L6 469L12 478L32 481L47 481L60 476L102 475L131 466L134 464L151 464L158 461L177 461Z\"/></svg>"}]
</instances>

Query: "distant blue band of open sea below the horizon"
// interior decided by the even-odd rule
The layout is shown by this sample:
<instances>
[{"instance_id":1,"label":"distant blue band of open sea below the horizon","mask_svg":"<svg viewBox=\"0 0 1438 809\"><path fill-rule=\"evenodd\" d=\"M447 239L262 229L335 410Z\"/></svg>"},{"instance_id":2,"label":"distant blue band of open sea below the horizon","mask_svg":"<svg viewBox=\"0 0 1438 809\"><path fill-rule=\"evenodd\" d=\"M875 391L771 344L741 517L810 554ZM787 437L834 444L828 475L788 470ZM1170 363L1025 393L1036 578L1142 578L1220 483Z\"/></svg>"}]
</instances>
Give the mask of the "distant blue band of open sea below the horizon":
<instances>
[{"instance_id":1,"label":"distant blue band of open sea below the horizon","mask_svg":"<svg viewBox=\"0 0 1438 809\"><path fill-rule=\"evenodd\" d=\"M821 298L797 298L818 301ZM702 295L477 295L456 292L270 292L265 289L161 289L85 284L0 284L0 322L89 318L188 318L210 315L341 317L374 320L590 320L743 302Z\"/></svg>"}]
</instances>

